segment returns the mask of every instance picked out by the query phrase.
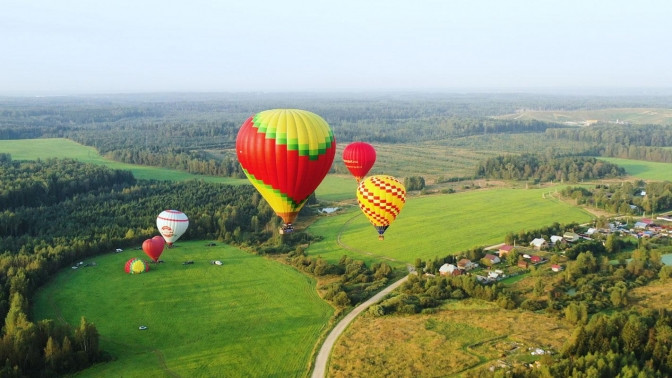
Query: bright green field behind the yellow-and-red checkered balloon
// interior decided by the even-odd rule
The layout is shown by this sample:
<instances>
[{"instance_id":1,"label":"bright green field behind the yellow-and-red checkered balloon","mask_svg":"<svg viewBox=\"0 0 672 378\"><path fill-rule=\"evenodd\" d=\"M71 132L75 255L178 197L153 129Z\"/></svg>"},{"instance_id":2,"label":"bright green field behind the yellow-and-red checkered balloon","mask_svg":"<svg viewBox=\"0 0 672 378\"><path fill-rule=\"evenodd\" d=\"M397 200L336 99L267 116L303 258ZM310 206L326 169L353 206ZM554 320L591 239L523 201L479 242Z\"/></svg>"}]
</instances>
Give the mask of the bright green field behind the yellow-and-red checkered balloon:
<instances>
[{"instance_id":1,"label":"bright green field behind the yellow-and-red checkered balloon","mask_svg":"<svg viewBox=\"0 0 672 378\"><path fill-rule=\"evenodd\" d=\"M356 209L324 217L310 232L324 235L308 253L337 261L343 254L391 258L413 263L443 257L476 246L502 243L507 232L519 232L553 222L584 223L586 211L545 195L560 187L491 189L456 194L412 196L380 241Z\"/></svg>"}]
</instances>

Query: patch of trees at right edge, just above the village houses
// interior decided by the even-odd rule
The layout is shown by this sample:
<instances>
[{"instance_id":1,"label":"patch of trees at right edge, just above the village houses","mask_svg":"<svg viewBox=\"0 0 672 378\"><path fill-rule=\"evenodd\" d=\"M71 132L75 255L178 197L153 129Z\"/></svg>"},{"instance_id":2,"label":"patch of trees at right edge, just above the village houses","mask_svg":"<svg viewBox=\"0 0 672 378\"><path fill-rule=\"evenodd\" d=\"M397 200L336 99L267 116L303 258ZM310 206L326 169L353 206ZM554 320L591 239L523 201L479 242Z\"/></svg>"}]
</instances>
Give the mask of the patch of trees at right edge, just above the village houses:
<instances>
[{"instance_id":1,"label":"patch of trees at right edge, just above the village houses","mask_svg":"<svg viewBox=\"0 0 672 378\"><path fill-rule=\"evenodd\" d=\"M645 195L642 195L642 192ZM616 214L652 214L672 210L672 182L639 181L620 185L599 185L594 189L566 187L560 191L579 205L590 205Z\"/></svg>"}]
</instances>

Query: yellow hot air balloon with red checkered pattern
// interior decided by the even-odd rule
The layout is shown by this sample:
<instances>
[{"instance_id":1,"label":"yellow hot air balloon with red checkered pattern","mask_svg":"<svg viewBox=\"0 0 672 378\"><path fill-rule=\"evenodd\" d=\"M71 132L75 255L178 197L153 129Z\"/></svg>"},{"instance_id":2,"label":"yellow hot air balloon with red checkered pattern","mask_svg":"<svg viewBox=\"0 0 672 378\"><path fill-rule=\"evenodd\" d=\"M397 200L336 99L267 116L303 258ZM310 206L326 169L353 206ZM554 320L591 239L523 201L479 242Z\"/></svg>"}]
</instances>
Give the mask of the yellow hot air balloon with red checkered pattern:
<instances>
[{"instance_id":1,"label":"yellow hot air balloon with red checkered pattern","mask_svg":"<svg viewBox=\"0 0 672 378\"><path fill-rule=\"evenodd\" d=\"M392 176L369 176L357 186L357 202L383 240L383 233L406 203L406 188Z\"/></svg>"}]
</instances>

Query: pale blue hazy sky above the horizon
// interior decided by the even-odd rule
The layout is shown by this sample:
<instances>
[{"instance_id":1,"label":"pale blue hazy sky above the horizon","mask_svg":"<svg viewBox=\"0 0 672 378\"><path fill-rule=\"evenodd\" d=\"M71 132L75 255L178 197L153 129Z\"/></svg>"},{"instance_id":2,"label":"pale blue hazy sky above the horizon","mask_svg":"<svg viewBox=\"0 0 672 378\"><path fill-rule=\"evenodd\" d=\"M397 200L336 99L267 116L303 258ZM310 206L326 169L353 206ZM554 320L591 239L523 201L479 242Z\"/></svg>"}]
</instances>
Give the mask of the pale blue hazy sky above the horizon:
<instances>
[{"instance_id":1,"label":"pale blue hazy sky above the horizon","mask_svg":"<svg viewBox=\"0 0 672 378\"><path fill-rule=\"evenodd\" d=\"M669 0L2 0L0 95L672 89Z\"/></svg>"}]
</instances>

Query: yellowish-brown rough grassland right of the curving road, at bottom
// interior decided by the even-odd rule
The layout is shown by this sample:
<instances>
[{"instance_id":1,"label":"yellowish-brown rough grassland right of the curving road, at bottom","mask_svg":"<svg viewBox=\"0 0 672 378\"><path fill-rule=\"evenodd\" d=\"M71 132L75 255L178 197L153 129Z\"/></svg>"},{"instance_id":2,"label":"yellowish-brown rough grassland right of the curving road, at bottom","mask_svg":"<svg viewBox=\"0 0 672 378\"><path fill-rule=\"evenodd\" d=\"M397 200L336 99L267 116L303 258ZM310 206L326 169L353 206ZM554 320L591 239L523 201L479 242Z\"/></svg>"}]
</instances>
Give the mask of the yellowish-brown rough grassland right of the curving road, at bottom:
<instances>
[{"instance_id":1,"label":"yellowish-brown rough grassland right of the curving road, at bottom","mask_svg":"<svg viewBox=\"0 0 672 378\"><path fill-rule=\"evenodd\" d=\"M328 376L487 372L498 360L515 365L536 359L528 348L558 351L570 333L557 317L479 300L453 302L431 315L360 316L336 342Z\"/></svg>"}]
</instances>

